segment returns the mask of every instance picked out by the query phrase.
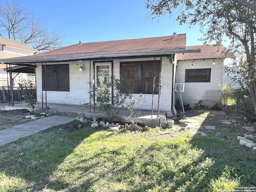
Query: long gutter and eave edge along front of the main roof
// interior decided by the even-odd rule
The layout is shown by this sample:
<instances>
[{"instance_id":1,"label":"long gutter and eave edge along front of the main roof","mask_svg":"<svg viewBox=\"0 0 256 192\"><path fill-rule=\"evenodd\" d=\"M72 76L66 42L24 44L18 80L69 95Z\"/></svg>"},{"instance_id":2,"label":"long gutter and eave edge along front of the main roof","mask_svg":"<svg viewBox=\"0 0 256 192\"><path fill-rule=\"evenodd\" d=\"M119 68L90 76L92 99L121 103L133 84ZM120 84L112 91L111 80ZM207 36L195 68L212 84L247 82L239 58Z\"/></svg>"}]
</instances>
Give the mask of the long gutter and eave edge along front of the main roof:
<instances>
[{"instance_id":1,"label":"long gutter and eave edge along front of the main roof","mask_svg":"<svg viewBox=\"0 0 256 192\"><path fill-rule=\"evenodd\" d=\"M24 64L24 63L38 63L38 62L58 62L58 61L76 61L76 60L95 60L95 59L107 59L107 58L120 58L120 57L139 57L139 56L164 56L177 53L198 53L200 49L192 50L157 50L149 52L134 52L134 53L118 53L118 54L96 54L85 56L61 56L61 57L45 57L45 58L13 58L3 59L0 63L5 64ZM38 55L36 55L38 56Z\"/></svg>"}]
</instances>

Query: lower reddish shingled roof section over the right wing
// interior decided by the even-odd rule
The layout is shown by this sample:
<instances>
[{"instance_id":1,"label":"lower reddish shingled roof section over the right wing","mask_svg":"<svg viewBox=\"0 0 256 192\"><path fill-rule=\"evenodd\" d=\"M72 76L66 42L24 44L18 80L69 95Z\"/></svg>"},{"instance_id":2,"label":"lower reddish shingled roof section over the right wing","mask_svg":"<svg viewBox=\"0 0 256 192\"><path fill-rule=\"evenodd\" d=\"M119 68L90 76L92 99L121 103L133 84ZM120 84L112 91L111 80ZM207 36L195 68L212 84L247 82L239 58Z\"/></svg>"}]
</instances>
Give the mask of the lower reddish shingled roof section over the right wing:
<instances>
[{"instance_id":1,"label":"lower reddish shingled roof section over the right wing","mask_svg":"<svg viewBox=\"0 0 256 192\"><path fill-rule=\"evenodd\" d=\"M221 58L222 52L226 49L224 45L198 45L198 46L187 46L186 50L190 49L201 49L200 53L185 53L178 54L178 60L192 60L192 59L212 59Z\"/></svg>"}]
</instances>

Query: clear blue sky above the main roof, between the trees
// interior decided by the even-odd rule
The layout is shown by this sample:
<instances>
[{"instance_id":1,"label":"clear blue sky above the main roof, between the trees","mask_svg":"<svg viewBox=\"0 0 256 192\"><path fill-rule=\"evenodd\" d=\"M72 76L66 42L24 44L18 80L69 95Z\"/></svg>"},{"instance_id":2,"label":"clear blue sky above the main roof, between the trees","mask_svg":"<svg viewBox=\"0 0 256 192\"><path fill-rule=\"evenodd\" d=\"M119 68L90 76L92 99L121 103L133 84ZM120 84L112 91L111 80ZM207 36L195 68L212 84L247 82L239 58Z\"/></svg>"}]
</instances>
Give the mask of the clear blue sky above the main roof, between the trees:
<instances>
[{"instance_id":1,"label":"clear blue sky above the main roof, between the trees","mask_svg":"<svg viewBox=\"0 0 256 192\"><path fill-rule=\"evenodd\" d=\"M187 34L187 46L202 45L198 26L180 26L175 16L159 22L146 18L146 0L16 0L34 12L42 24L59 29L68 45ZM228 44L224 43L224 46Z\"/></svg>"}]
</instances>

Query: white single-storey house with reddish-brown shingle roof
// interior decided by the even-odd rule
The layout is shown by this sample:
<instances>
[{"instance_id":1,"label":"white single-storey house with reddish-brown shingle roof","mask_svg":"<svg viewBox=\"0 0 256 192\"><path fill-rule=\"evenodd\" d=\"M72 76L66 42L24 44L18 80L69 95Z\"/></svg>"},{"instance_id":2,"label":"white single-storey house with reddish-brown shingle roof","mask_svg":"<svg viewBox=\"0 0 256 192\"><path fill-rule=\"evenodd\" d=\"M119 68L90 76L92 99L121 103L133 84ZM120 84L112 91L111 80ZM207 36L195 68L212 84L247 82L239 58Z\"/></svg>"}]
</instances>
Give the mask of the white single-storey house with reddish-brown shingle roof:
<instances>
[{"instance_id":1,"label":"white single-storey house with reddish-brown shingle roof","mask_svg":"<svg viewBox=\"0 0 256 192\"><path fill-rule=\"evenodd\" d=\"M216 65L210 65L213 57L206 58L210 53L201 56L200 48L186 47L186 34L174 33L171 36L152 38L79 42L33 56L4 59L0 62L36 67L39 102L90 103L90 83L104 85L114 75L127 88L134 88L135 97L140 93L145 96L142 109L172 111L178 97L175 92L176 70L179 81L185 83L182 96L188 103L202 99L197 92L202 94L207 88L217 89L215 77L222 79L222 67L216 67L220 60L217 59L217 54L214 55ZM200 57L194 57L195 53ZM185 80L186 69L190 69L192 64L191 59L182 58L187 54L192 57L192 61L196 61L193 63L194 69L212 69L207 71L211 74L207 86L203 82L190 83ZM193 94L198 94L197 98L187 93L193 86Z\"/></svg>"}]
</instances>

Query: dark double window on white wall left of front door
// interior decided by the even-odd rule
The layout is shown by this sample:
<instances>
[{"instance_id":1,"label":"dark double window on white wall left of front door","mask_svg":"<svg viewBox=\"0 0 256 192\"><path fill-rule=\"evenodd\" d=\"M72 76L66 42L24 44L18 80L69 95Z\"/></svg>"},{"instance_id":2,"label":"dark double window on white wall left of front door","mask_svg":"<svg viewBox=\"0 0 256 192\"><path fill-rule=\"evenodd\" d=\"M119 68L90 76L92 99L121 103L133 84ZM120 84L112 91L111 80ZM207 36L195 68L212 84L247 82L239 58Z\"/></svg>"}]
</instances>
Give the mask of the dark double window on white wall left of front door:
<instances>
[{"instance_id":1,"label":"dark double window on white wall left of front door","mask_svg":"<svg viewBox=\"0 0 256 192\"><path fill-rule=\"evenodd\" d=\"M69 65L43 65L43 90L69 91Z\"/></svg>"}]
</instances>

